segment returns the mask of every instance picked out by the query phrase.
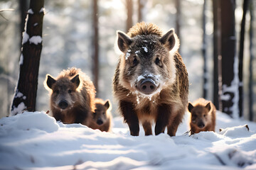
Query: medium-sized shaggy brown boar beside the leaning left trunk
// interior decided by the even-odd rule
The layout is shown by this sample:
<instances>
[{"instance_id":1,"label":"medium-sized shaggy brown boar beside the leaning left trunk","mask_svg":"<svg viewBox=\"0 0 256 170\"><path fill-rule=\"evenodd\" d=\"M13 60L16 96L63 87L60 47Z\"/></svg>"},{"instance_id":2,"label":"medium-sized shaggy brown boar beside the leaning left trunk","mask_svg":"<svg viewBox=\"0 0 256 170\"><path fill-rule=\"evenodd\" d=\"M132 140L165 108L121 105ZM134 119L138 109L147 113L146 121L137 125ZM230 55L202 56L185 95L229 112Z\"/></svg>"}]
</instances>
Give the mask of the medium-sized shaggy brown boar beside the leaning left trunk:
<instances>
[{"instance_id":1,"label":"medium-sized shaggy brown boar beside the leaning left trunk","mask_svg":"<svg viewBox=\"0 0 256 170\"><path fill-rule=\"evenodd\" d=\"M57 79L47 74L44 86L50 91L50 109L56 120L88 125L95 110L95 86L85 73L73 67L60 72Z\"/></svg>"}]
</instances>

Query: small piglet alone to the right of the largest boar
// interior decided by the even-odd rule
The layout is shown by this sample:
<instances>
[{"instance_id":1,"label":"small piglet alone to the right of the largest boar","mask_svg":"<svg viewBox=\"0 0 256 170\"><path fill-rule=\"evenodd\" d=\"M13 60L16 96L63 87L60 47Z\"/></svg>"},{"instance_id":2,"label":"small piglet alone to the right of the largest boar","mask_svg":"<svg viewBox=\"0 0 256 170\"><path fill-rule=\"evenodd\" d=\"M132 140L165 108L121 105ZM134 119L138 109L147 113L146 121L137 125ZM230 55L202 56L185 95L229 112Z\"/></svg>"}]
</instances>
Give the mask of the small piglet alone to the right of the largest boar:
<instances>
[{"instance_id":1,"label":"small piglet alone to the right of the largest boar","mask_svg":"<svg viewBox=\"0 0 256 170\"><path fill-rule=\"evenodd\" d=\"M204 98L188 103L188 111L191 113L191 135L201 131L215 132L216 108L212 102ZM204 125L203 127L199 127Z\"/></svg>"}]
</instances>

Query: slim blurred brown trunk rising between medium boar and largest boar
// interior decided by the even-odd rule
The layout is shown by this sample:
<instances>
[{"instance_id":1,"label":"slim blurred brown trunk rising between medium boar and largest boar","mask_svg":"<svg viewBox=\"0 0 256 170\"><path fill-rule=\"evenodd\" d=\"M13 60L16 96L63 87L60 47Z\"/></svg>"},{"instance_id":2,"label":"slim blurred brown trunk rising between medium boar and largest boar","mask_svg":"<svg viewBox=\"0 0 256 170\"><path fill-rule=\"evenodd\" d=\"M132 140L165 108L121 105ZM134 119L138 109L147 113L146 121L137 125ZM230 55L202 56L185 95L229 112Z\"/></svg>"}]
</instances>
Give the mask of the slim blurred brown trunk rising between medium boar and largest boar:
<instances>
[{"instance_id":1,"label":"slim blurred brown trunk rising between medium boar and largest boar","mask_svg":"<svg viewBox=\"0 0 256 170\"><path fill-rule=\"evenodd\" d=\"M93 61L93 68L92 73L93 77L93 84L95 85L96 91L98 91L98 80L99 80L99 28L98 28L98 6L97 0L93 1L93 52L92 52L92 61Z\"/></svg>"}]
</instances>

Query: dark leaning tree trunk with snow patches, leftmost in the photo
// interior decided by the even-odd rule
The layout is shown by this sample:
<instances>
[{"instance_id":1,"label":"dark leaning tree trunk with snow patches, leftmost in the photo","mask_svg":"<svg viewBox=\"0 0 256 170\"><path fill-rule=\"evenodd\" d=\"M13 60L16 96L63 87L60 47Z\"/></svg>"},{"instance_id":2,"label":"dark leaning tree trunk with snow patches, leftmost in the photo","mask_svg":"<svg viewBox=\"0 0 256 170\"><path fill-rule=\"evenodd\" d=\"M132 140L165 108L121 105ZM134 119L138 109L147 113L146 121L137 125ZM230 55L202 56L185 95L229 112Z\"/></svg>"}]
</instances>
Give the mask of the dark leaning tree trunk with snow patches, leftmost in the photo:
<instances>
[{"instance_id":1,"label":"dark leaning tree trunk with snow patches, leftmost in the photo","mask_svg":"<svg viewBox=\"0 0 256 170\"><path fill-rule=\"evenodd\" d=\"M23 32L20 73L10 115L22 113L24 110L36 110L38 69L42 50L43 4L43 0L30 2Z\"/></svg>"}]
</instances>

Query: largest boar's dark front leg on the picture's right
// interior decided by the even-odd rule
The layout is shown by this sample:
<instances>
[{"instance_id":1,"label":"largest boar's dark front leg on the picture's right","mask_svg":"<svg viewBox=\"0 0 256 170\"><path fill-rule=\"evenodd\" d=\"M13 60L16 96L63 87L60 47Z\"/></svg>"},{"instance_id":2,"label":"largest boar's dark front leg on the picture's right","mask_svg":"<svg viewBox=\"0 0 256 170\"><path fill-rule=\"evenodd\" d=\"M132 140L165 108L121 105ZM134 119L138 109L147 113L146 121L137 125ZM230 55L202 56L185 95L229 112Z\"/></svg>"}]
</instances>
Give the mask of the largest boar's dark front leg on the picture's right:
<instances>
[{"instance_id":1,"label":"largest boar's dark front leg on the picture's right","mask_svg":"<svg viewBox=\"0 0 256 170\"><path fill-rule=\"evenodd\" d=\"M170 111L171 106L167 104L163 104L158 107L155 127L156 135L159 135L159 133L164 132L166 126L169 124Z\"/></svg>"}]
</instances>

